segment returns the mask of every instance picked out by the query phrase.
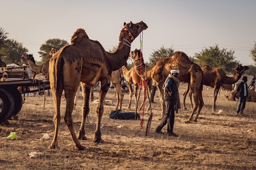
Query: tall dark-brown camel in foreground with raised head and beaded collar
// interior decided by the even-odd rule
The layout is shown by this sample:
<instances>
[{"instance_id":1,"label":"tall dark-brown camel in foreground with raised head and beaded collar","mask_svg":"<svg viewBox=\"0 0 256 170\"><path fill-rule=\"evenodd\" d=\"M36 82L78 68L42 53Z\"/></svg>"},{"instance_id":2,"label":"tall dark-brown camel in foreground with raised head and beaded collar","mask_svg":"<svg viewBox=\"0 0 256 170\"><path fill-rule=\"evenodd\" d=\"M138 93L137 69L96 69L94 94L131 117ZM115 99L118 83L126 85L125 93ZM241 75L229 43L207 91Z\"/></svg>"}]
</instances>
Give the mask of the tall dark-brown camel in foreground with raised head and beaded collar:
<instances>
[{"instance_id":1,"label":"tall dark-brown camel in foreground with raised head and beaded collar","mask_svg":"<svg viewBox=\"0 0 256 170\"><path fill-rule=\"evenodd\" d=\"M79 139L85 137L85 118L89 113L90 87L100 80L99 103L96 110L97 122L93 142L104 142L101 138L101 117L104 113L104 99L109 90L112 71L118 70L125 65L131 48L131 42L147 29L142 21L139 23L124 23L119 35L119 43L114 53L104 50L98 41L90 40L84 29L77 29L71 39L71 44L58 50L49 62L49 78L55 105L55 134L49 148L57 148L57 135L60 125L61 94L65 91L66 109L64 121L69 128L73 139L73 145L77 150L84 150ZM105 29L104 29L105 31ZM72 111L77 87L79 83L85 84L85 100L82 109L82 122L79 135L76 137L73 129Z\"/></svg>"}]
</instances>

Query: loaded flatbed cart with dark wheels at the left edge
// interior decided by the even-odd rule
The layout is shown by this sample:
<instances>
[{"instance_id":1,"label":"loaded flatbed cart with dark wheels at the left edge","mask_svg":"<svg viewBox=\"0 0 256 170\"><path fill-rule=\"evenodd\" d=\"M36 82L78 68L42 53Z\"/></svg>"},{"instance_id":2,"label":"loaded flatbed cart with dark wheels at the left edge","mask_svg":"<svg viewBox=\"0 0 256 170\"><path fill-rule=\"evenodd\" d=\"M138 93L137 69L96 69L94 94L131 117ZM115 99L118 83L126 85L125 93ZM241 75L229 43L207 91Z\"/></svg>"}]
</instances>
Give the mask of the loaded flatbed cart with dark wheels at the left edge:
<instances>
[{"instance_id":1,"label":"loaded flatbed cart with dark wheels at the left edge","mask_svg":"<svg viewBox=\"0 0 256 170\"><path fill-rule=\"evenodd\" d=\"M44 91L50 89L49 80L32 79L31 75L27 65L7 66L0 71L0 123L20 112L25 97L22 94L38 92L44 95Z\"/></svg>"}]
</instances>

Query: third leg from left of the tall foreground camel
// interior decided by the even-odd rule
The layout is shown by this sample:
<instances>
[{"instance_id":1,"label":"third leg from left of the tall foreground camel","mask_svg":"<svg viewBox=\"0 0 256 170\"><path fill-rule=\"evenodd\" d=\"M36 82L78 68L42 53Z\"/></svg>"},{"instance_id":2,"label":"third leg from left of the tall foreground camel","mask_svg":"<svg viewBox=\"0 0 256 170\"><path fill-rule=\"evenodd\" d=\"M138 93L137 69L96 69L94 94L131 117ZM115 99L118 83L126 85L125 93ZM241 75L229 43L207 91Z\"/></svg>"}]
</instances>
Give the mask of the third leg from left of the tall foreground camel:
<instances>
[{"instance_id":1,"label":"third leg from left of the tall foreground camel","mask_svg":"<svg viewBox=\"0 0 256 170\"><path fill-rule=\"evenodd\" d=\"M82 92L83 92L83 96L84 96L84 104L82 105L82 122L81 122L81 126L80 126L80 129L79 129L79 135L77 136L77 139L82 139L82 140L86 140L87 139L85 137L84 126L85 126L86 117L88 117L88 114L90 112L90 108L89 108L90 90L91 90L90 87L86 87L85 84L82 84Z\"/></svg>"}]
</instances>

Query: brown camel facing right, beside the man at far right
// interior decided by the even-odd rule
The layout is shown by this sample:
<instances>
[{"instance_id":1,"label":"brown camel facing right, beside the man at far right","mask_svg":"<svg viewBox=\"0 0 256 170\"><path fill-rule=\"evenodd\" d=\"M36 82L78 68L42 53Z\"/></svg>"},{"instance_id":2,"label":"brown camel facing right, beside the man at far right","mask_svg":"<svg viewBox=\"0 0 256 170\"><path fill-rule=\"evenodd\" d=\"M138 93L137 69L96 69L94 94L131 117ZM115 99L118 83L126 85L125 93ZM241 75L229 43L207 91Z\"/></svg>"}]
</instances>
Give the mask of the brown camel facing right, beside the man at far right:
<instances>
[{"instance_id":1,"label":"brown camel facing right, beside the man at far right","mask_svg":"<svg viewBox=\"0 0 256 170\"><path fill-rule=\"evenodd\" d=\"M236 83L241 78L242 73L248 70L249 67L238 65L234 70L234 75L232 77L227 76L224 70L218 69L218 68L212 68L208 65L201 67L201 69L203 70L203 73L204 73L204 80L203 80L204 85L214 88L212 112L215 112L217 95L222 84ZM184 92L184 95L183 95L184 108L185 108L185 97L188 91L189 91L189 84L188 84L187 90Z\"/></svg>"}]
</instances>

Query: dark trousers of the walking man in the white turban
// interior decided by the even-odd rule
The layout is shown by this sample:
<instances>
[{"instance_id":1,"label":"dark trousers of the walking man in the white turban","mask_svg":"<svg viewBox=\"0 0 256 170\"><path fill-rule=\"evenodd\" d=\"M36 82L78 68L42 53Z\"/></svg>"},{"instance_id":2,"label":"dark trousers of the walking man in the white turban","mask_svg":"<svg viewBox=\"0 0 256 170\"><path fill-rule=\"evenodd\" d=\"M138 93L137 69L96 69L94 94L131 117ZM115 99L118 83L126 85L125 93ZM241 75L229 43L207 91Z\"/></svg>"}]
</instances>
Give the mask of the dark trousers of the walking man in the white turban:
<instances>
[{"instance_id":1,"label":"dark trousers of the walking man in the white turban","mask_svg":"<svg viewBox=\"0 0 256 170\"><path fill-rule=\"evenodd\" d=\"M163 129L163 127L167 124L167 133L172 134L174 130L174 106L176 104L176 101L166 101L166 113L164 114L164 117L162 118L162 121L158 125L158 128L156 128L156 131L160 131Z\"/></svg>"}]
</instances>

